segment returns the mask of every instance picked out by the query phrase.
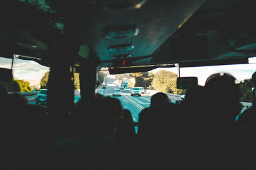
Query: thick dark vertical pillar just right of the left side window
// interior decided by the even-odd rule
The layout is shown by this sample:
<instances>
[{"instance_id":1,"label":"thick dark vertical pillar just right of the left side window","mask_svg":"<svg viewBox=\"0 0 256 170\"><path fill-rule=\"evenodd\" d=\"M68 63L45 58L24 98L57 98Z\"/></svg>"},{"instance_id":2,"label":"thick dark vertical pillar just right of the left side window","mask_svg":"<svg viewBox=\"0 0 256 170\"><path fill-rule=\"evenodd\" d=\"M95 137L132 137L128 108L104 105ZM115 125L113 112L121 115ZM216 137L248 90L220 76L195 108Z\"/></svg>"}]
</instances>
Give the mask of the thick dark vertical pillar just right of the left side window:
<instances>
[{"instance_id":1,"label":"thick dark vertical pillar just right of the left side window","mask_svg":"<svg viewBox=\"0 0 256 170\"><path fill-rule=\"evenodd\" d=\"M67 138L68 121L74 109L74 61L79 50L72 27L63 31L52 49L49 81L47 83L47 110L55 129L55 138Z\"/></svg>"}]
</instances>

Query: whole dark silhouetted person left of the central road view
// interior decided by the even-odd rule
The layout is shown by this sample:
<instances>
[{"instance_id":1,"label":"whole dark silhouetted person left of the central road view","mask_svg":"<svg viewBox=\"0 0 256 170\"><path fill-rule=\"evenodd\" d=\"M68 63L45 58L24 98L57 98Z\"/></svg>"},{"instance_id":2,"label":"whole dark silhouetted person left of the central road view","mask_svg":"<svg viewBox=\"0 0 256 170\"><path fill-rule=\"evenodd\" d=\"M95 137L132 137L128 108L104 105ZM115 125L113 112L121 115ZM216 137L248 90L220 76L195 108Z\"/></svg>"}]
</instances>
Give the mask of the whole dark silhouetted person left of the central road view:
<instances>
[{"instance_id":1,"label":"whole dark silhouetted person left of the central road view","mask_svg":"<svg viewBox=\"0 0 256 170\"><path fill-rule=\"evenodd\" d=\"M79 101L75 108L74 138L59 139L56 154L62 168L113 169L118 166L116 132L122 116L122 105L111 97L93 97L91 101ZM64 164L62 163L64 162Z\"/></svg>"}]
</instances>

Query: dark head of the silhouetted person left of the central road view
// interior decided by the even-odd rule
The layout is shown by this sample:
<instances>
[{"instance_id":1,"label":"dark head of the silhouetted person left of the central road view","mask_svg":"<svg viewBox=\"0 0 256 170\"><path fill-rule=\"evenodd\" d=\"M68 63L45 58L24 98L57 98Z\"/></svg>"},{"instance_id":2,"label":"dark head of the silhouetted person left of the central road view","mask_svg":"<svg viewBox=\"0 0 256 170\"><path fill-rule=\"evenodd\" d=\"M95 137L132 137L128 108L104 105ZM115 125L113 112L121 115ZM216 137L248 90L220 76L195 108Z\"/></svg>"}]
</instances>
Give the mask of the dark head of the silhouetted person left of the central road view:
<instances>
[{"instance_id":1,"label":"dark head of the silhouetted person left of the central road view","mask_svg":"<svg viewBox=\"0 0 256 170\"><path fill-rule=\"evenodd\" d=\"M112 97L93 97L85 103L77 103L76 122L83 124L82 134L87 137L115 137L118 119L122 115L122 105Z\"/></svg>"}]
</instances>

